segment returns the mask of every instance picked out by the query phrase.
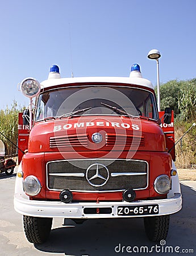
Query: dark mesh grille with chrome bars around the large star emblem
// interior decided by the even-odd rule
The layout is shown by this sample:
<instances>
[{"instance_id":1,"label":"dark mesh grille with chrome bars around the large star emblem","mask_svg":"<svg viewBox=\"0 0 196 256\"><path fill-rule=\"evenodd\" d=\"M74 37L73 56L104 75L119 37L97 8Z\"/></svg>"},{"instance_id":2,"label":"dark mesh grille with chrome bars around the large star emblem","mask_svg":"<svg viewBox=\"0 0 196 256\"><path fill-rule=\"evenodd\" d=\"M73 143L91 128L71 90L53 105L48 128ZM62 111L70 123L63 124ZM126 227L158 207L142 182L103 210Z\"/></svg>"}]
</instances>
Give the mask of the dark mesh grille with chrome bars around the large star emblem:
<instances>
[{"instance_id":1,"label":"dark mesh grille with chrome bars around the large star emblem","mask_svg":"<svg viewBox=\"0 0 196 256\"><path fill-rule=\"evenodd\" d=\"M93 182L94 187L86 179L93 176L95 170L86 170L91 165L106 166L109 179L101 185L99 177ZM104 177L105 168L99 168L99 175ZM89 178L89 177L88 177ZM100 183L100 186L99 186ZM84 159L84 160L57 160L47 163L47 187L52 190L70 189L71 191L123 191L127 188L144 189L148 186L148 163L142 160L124 159Z\"/></svg>"}]
</instances>

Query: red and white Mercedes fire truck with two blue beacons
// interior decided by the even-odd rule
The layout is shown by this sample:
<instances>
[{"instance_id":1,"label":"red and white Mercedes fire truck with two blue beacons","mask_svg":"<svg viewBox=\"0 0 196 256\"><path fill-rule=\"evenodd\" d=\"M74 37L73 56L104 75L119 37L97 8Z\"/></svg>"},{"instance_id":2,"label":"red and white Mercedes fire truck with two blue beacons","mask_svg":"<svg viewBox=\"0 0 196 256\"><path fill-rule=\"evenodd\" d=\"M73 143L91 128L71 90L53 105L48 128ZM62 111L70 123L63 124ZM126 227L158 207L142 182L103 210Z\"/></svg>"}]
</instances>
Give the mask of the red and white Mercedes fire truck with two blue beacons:
<instances>
[{"instance_id":1,"label":"red and white Mercedes fire truck with two blue beacons","mask_svg":"<svg viewBox=\"0 0 196 256\"><path fill-rule=\"evenodd\" d=\"M182 205L173 113L159 115L139 65L130 77L70 78L53 65L47 80L25 79L21 90L30 109L20 115L19 147L26 153L14 207L27 240L46 241L55 217L77 224L143 217L149 240L165 239L169 216Z\"/></svg>"}]
</instances>

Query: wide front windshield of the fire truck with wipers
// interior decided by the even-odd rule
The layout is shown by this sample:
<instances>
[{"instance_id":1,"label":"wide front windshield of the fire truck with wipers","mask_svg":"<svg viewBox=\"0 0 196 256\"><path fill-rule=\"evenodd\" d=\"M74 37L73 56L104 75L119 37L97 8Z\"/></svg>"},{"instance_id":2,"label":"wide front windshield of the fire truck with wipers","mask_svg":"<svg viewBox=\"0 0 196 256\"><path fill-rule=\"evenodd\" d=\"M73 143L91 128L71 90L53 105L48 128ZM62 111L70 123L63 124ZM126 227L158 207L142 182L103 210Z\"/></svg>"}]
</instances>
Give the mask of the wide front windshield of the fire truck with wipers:
<instances>
[{"instance_id":1,"label":"wide front windshield of the fire truck with wipers","mask_svg":"<svg viewBox=\"0 0 196 256\"><path fill-rule=\"evenodd\" d=\"M127 86L108 85L72 86L41 93L37 101L35 120L66 117L70 113L72 116L126 115L127 113L157 120L155 99L151 92Z\"/></svg>"}]
</instances>

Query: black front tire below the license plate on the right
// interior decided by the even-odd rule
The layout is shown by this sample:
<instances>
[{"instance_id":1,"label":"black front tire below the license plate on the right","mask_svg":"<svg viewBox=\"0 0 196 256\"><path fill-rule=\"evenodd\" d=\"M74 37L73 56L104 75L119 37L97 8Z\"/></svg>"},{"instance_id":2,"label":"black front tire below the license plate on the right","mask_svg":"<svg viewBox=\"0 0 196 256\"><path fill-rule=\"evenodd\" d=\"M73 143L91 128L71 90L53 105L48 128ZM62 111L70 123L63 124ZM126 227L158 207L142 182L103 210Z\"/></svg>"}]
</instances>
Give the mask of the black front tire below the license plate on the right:
<instances>
[{"instance_id":1,"label":"black front tire below the license plate on the right","mask_svg":"<svg viewBox=\"0 0 196 256\"><path fill-rule=\"evenodd\" d=\"M169 215L144 217L145 233L149 240L160 242L168 236Z\"/></svg>"}]
</instances>

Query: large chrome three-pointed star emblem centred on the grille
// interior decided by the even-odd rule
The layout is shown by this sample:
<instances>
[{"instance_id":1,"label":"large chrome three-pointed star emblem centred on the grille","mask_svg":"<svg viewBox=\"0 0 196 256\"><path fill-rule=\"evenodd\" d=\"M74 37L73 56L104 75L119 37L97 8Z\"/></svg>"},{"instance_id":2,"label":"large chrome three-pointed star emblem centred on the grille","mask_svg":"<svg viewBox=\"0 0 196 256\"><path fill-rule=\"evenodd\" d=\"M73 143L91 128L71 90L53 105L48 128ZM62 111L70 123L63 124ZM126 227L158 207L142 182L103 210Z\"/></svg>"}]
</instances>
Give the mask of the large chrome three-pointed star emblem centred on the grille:
<instances>
[{"instance_id":1,"label":"large chrome three-pointed star emblem centred on the grille","mask_svg":"<svg viewBox=\"0 0 196 256\"><path fill-rule=\"evenodd\" d=\"M101 187L109 179L109 170L106 166L99 163L91 164L86 170L86 179L94 187Z\"/></svg>"}]
</instances>

